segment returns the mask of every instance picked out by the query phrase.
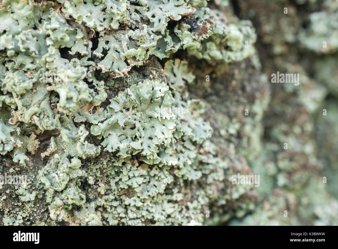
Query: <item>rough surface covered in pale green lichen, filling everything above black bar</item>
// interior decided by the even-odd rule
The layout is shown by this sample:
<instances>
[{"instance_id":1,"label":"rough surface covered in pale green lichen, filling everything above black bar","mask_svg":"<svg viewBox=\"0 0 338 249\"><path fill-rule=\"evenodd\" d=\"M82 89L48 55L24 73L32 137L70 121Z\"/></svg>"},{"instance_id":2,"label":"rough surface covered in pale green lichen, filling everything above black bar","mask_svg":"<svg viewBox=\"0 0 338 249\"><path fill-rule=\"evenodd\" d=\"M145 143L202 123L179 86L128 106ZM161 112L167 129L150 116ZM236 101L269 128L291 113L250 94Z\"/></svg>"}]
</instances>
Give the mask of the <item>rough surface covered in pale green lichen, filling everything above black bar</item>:
<instances>
[{"instance_id":1,"label":"rough surface covered in pale green lichen, filling everything above black bar","mask_svg":"<svg viewBox=\"0 0 338 249\"><path fill-rule=\"evenodd\" d=\"M0 1L0 225L337 224L338 6L296 2Z\"/></svg>"}]
</instances>

